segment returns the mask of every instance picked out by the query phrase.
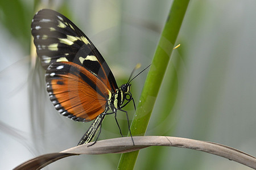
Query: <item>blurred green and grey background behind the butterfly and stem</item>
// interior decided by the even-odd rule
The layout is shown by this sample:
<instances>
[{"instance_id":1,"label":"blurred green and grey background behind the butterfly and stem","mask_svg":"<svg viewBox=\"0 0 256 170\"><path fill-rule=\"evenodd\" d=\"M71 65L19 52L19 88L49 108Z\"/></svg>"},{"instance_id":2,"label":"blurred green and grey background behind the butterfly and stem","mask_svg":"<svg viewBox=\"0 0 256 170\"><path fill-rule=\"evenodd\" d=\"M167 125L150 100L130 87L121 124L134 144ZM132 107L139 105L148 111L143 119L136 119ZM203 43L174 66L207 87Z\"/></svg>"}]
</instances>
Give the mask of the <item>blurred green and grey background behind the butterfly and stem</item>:
<instances>
[{"instance_id":1,"label":"blurred green and grey background behind the butterfly and stem","mask_svg":"<svg viewBox=\"0 0 256 170\"><path fill-rule=\"evenodd\" d=\"M35 1L39 4L38 1ZM36 8L68 16L108 62L119 86L137 63L151 63L172 1L0 1L0 169L77 145L90 123L55 111L44 70L31 60ZM256 2L191 1L146 135L170 135L228 145L256 155ZM146 71L147 72L147 71ZM135 102L146 72L133 80ZM133 105L125 108L129 117ZM126 116L118 114L124 134ZM120 137L113 115L100 139ZM120 154L80 155L45 169L115 169ZM249 169L184 148L141 150L135 169Z\"/></svg>"}]
</instances>

